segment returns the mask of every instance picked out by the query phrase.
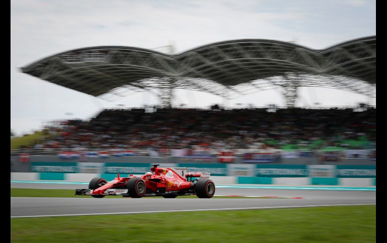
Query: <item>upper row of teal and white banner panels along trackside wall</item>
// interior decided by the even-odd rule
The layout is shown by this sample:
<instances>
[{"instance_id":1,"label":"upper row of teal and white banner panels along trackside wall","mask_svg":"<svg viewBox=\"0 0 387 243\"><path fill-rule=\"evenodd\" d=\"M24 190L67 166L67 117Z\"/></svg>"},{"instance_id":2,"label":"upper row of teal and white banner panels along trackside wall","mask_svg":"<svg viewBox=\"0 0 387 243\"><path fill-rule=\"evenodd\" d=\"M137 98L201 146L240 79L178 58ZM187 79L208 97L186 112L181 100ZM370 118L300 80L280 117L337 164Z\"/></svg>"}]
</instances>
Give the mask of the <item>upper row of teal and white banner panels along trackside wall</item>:
<instances>
[{"instance_id":1,"label":"upper row of teal and white banner panels along trackside wall","mask_svg":"<svg viewBox=\"0 0 387 243\"><path fill-rule=\"evenodd\" d=\"M151 163L31 162L31 172L144 174ZM222 164L162 163L165 167L187 167L208 171L212 176L376 178L375 165Z\"/></svg>"}]
</instances>

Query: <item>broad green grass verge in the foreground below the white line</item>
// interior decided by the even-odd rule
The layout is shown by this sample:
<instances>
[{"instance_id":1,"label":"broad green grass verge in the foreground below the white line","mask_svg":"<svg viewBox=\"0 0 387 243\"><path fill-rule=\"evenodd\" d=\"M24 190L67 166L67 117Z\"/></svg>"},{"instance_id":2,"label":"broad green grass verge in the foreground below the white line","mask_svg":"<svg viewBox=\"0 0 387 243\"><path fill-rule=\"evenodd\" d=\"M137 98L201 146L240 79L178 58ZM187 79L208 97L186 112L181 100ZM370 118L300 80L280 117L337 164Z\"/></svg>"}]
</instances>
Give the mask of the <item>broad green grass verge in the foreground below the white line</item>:
<instances>
[{"instance_id":1,"label":"broad green grass verge in the foreground below the white line","mask_svg":"<svg viewBox=\"0 0 387 243\"><path fill-rule=\"evenodd\" d=\"M375 242L376 206L12 218L11 242Z\"/></svg>"}]
</instances>

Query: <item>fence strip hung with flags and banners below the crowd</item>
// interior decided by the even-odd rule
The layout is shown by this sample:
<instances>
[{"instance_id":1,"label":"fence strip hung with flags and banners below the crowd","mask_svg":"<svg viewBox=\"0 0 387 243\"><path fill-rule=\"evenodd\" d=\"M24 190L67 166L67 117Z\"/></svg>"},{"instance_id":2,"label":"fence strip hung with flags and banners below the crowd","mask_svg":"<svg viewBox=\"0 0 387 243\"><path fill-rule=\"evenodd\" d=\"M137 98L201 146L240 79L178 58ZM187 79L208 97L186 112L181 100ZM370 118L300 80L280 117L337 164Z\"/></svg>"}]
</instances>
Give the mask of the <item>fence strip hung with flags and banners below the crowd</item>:
<instances>
[{"instance_id":1,"label":"fence strip hung with flags and banners below the crowd","mask_svg":"<svg viewBox=\"0 0 387 243\"><path fill-rule=\"evenodd\" d=\"M12 156L21 155L58 155L58 156L150 156L160 157L183 157L183 158L220 158L222 162L225 152L227 160L233 162L232 158L243 157L245 162L268 162L278 158L302 158L319 157L326 161L339 161L341 159L376 159L376 150L192 150L192 149L74 149L74 148L25 148L11 150Z\"/></svg>"}]
</instances>

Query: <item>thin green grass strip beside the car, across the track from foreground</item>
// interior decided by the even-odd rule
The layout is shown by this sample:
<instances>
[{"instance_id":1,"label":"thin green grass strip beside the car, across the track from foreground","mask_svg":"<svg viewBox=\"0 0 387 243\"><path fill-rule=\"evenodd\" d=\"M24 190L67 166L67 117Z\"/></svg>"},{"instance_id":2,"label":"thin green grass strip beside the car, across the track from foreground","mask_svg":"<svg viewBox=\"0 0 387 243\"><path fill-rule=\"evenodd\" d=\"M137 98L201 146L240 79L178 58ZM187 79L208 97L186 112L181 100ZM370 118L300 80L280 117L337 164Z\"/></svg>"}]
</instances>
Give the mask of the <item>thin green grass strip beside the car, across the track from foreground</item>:
<instances>
[{"instance_id":1,"label":"thin green grass strip beside the car, across the track from foreground","mask_svg":"<svg viewBox=\"0 0 387 243\"><path fill-rule=\"evenodd\" d=\"M29 189L29 188L11 188L12 197L88 197L91 196L79 196L74 195L74 189ZM107 196L106 198L122 198L122 196ZM160 198L160 197L145 197L145 198ZM178 196L176 198L198 198L197 196ZM214 196L214 198L246 198L239 196ZM272 197L248 197L248 198L272 198ZM279 198L279 197L278 197Z\"/></svg>"}]
</instances>

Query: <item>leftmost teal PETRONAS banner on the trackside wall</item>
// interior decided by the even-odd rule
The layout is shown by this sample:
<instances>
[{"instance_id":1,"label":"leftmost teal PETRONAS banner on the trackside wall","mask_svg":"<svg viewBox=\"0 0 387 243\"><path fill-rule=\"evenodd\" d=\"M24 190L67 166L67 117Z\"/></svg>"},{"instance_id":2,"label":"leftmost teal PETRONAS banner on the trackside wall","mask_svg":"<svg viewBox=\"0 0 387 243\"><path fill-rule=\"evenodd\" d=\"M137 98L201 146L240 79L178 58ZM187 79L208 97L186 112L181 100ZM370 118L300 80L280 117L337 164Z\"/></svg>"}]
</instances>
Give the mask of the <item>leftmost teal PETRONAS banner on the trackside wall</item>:
<instances>
[{"instance_id":1,"label":"leftmost teal PETRONAS banner on the trackside wall","mask_svg":"<svg viewBox=\"0 0 387 243\"><path fill-rule=\"evenodd\" d=\"M31 172L79 173L76 162L31 162Z\"/></svg>"}]
</instances>

